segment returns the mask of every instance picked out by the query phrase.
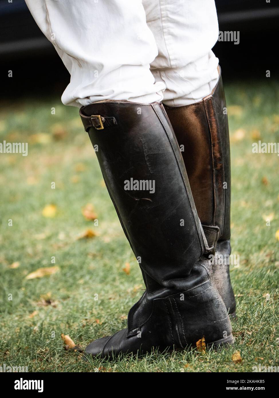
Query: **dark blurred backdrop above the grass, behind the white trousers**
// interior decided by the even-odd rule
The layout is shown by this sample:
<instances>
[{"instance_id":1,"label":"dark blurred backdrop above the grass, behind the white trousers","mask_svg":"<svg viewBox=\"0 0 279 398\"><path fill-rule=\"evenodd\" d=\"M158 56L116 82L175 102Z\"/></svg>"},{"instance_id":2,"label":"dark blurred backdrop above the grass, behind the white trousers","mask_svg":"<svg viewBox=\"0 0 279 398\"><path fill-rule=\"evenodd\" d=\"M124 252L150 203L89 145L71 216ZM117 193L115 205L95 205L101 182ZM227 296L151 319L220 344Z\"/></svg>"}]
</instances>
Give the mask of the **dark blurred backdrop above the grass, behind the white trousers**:
<instances>
[{"instance_id":1,"label":"dark blurred backdrop above the grass, behind the white trousers","mask_svg":"<svg viewBox=\"0 0 279 398\"><path fill-rule=\"evenodd\" d=\"M278 47L279 4L271 0L216 0L219 30L240 31L240 43L217 42L223 78L258 79L272 66ZM69 74L52 44L37 27L24 0L0 0L1 92L14 96L62 94ZM9 79L6 71L13 70ZM257 73L261 71L261 73ZM33 92L33 87L36 92Z\"/></svg>"}]
</instances>

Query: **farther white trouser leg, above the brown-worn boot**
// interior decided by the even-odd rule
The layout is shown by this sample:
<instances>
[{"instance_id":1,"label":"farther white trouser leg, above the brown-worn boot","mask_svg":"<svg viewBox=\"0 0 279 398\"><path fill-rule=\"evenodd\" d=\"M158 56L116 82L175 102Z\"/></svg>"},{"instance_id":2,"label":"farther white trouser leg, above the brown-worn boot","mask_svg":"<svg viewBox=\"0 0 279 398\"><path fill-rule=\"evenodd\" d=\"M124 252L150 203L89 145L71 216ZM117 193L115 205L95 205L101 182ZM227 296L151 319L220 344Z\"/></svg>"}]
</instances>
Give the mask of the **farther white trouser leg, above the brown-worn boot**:
<instances>
[{"instance_id":1,"label":"farther white trouser leg, above the brown-worn boot","mask_svg":"<svg viewBox=\"0 0 279 398\"><path fill-rule=\"evenodd\" d=\"M166 84L163 103L184 106L202 100L218 80L211 51L218 34L214 0L143 0L147 25L158 47L151 62L157 82Z\"/></svg>"}]
</instances>

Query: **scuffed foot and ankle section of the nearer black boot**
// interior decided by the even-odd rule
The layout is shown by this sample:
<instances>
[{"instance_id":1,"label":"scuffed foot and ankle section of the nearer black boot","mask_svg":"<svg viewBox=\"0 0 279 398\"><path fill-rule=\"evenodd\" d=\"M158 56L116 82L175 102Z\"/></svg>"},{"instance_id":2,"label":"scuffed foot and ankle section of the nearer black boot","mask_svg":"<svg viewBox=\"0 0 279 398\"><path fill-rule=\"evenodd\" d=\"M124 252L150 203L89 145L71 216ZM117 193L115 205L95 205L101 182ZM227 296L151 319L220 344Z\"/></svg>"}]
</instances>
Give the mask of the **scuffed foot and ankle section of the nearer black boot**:
<instances>
[{"instance_id":1,"label":"scuffed foot and ankle section of the nearer black boot","mask_svg":"<svg viewBox=\"0 0 279 398\"><path fill-rule=\"evenodd\" d=\"M201 259L195 267L197 273L206 274L201 285L179 293L164 289L157 293L157 297L145 293L150 297L139 304L144 314L140 326L132 333L126 328L113 336L92 341L85 353L109 359L127 353L144 355L152 349L164 351L195 347L203 337L207 347L232 344L230 321L212 281L209 261ZM131 312L133 308L129 318Z\"/></svg>"}]
</instances>

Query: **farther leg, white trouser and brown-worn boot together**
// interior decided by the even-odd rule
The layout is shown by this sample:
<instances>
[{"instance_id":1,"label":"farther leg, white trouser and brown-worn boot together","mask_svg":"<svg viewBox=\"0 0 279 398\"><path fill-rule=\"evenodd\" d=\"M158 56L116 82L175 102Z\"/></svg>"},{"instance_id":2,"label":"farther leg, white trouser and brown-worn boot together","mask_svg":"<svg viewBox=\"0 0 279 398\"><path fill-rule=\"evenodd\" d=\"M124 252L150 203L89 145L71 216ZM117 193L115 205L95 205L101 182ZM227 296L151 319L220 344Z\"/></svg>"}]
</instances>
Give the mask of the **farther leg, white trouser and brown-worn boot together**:
<instances>
[{"instance_id":1,"label":"farther leg, white trouser and brown-worn boot together","mask_svg":"<svg viewBox=\"0 0 279 398\"><path fill-rule=\"evenodd\" d=\"M144 0L147 23L158 46L151 63L166 84L165 109L178 139L197 213L209 246L230 255L230 142L218 59L213 0ZM224 258L224 257L223 257ZM235 299L229 266L213 265L215 284L230 314Z\"/></svg>"}]
</instances>

